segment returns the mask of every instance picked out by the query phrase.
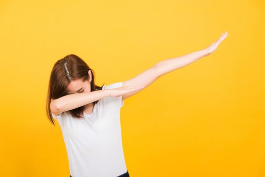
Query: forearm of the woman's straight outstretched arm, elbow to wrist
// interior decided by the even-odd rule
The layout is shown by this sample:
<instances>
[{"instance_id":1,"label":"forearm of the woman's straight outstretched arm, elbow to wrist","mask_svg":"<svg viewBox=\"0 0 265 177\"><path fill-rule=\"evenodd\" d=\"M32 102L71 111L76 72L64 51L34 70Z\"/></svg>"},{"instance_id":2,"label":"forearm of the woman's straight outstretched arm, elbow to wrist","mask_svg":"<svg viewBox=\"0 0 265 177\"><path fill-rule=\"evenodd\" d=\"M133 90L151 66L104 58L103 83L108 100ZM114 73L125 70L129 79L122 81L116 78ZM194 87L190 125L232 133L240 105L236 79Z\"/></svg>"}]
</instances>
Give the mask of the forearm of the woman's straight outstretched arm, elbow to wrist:
<instances>
[{"instance_id":1,"label":"forearm of the woman's straight outstretched arm, elbow to wrist","mask_svg":"<svg viewBox=\"0 0 265 177\"><path fill-rule=\"evenodd\" d=\"M159 76L162 76L166 73L169 73L171 71L174 71L176 69L182 68L186 65L189 65L196 60L209 55L208 52L204 50L196 51L181 57L172 58L163 60L157 64L155 64L155 67L157 68L159 72Z\"/></svg>"}]
</instances>

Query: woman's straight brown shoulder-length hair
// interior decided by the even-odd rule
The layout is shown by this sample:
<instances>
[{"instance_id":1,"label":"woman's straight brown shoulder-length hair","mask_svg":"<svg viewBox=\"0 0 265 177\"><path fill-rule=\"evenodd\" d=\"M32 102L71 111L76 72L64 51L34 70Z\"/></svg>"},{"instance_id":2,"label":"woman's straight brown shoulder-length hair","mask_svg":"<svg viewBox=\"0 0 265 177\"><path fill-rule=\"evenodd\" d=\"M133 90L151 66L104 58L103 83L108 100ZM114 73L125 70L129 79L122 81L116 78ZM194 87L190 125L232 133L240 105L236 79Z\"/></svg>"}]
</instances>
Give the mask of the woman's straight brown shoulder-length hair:
<instances>
[{"instance_id":1,"label":"woman's straight brown shoulder-length hair","mask_svg":"<svg viewBox=\"0 0 265 177\"><path fill-rule=\"evenodd\" d=\"M92 80L91 80L91 92L102 90L102 86L98 86L95 84L95 73L94 70L91 69L81 58L74 54L70 54L65 56L64 58L58 60L51 72L48 94L46 100L46 113L52 122L55 125L54 119L52 116L52 112L50 109L51 99L58 99L65 95L69 95L67 92L67 86L71 82L71 80L82 79L82 81L89 80L88 71L92 72ZM93 102L95 105L99 100ZM69 110L72 117L75 118L83 118L83 110L84 106ZM63 112L64 113L64 112Z\"/></svg>"}]
</instances>

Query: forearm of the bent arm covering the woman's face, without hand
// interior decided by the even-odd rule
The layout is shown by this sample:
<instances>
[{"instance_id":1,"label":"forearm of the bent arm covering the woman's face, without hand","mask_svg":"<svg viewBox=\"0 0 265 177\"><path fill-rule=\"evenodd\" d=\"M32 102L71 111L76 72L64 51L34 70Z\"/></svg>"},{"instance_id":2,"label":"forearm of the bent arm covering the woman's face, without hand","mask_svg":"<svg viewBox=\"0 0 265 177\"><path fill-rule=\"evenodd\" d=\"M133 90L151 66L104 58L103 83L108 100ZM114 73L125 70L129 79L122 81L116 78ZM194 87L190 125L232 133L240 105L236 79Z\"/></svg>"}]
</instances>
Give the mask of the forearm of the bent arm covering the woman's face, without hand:
<instances>
[{"instance_id":1,"label":"forearm of the bent arm covering the woman's face, without hand","mask_svg":"<svg viewBox=\"0 0 265 177\"><path fill-rule=\"evenodd\" d=\"M60 97L54 101L55 107L60 112L72 110L83 105L100 100L104 97L109 97L109 90L99 90L90 93L76 93Z\"/></svg>"}]
</instances>

